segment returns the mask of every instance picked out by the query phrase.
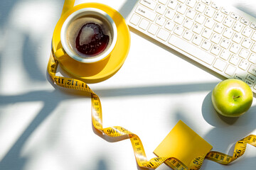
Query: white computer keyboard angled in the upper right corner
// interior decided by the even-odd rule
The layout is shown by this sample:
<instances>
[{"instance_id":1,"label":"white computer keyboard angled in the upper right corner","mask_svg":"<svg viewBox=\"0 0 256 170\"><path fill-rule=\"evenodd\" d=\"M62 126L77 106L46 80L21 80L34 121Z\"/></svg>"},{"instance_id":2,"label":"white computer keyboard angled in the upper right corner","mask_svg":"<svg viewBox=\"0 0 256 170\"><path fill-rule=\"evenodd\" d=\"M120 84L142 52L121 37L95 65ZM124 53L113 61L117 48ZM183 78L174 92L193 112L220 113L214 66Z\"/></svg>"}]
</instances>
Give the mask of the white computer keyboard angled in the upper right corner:
<instances>
[{"instance_id":1,"label":"white computer keyboard angled in the upper right corner","mask_svg":"<svg viewBox=\"0 0 256 170\"><path fill-rule=\"evenodd\" d=\"M139 0L127 23L256 94L256 18L209 0Z\"/></svg>"}]
</instances>

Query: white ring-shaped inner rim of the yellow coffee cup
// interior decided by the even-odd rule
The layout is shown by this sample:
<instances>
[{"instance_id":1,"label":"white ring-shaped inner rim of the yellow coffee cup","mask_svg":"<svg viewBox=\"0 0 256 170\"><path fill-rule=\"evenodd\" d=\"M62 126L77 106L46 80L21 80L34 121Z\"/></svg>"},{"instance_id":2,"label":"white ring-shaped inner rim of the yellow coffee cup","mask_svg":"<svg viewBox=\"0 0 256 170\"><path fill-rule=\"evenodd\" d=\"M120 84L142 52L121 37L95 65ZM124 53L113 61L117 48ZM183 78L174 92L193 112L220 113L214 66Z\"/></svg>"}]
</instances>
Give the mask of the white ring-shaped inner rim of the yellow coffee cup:
<instances>
[{"instance_id":1,"label":"white ring-shaped inner rim of the yellow coffee cup","mask_svg":"<svg viewBox=\"0 0 256 170\"><path fill-rule=\"evenodd\" d=\"M105 21L107 21L110 24L110 26L112 26L113 33L112 33L112 42L110 42L111 45L104 53L102 53L102 55L99 55L98 57L85 58L85 57L79 56L78 54L73 52L73 50L70 50L70 46L68 45L68 40L66 36L68 26L70 26L70 23L75 21L75 19L80 18L82 16L98 16L99 18L105 19ZM67 54L70 57L72 57L74 60L77 60L78 62L84 62L84 63L97 62L109 56L112 50L114 49L114 46L116 45L116 42L117 42L117 26L115 25L113 19L107 13L105 13L105 11L102 11L97 8L82 8L78 11L75 11L74 13L71 13L70 16L68 16L68 18L65 20L60 31L60 41L65 52L67 52Z\"/></svg>"}]
</instances>

